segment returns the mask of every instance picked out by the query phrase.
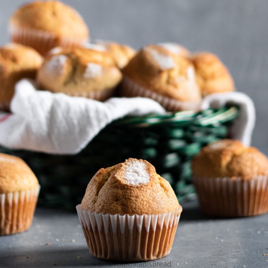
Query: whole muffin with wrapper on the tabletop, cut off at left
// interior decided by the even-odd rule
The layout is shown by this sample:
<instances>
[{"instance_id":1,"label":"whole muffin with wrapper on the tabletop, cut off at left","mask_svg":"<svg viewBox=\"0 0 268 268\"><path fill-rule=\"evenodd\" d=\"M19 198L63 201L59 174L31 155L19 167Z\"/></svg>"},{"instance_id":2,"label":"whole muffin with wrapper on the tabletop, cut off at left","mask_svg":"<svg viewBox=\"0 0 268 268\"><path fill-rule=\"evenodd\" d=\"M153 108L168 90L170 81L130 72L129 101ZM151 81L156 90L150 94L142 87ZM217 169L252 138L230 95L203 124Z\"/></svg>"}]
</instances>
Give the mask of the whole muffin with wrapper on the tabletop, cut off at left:
<instances>
[{"instance_id":1,"label":"whole muffin with wrapper on the tabletop, cut off at left","mask_svg":"<svg viewBox=\"0 0 268 268\"><path fill-rule=\"evenodd\" d=\"M35 174L22 159L0 153L0 235L30 228L39 188Z\"/></svg>"}]
</instances>

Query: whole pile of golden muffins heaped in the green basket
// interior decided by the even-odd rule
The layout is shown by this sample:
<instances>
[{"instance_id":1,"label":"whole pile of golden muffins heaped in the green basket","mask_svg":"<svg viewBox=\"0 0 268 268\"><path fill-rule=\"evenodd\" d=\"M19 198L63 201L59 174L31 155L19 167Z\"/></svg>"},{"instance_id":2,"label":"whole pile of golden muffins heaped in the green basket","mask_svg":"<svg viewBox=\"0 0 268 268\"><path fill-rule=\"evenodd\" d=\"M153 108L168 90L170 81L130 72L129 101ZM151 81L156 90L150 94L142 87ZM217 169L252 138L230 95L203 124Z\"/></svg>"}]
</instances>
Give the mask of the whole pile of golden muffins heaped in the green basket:
<instances>
[{"instance_id":1,"label":"whole pile of golden muffins heaped in the green basket","mask_svg":"<svg viewBox=\"0 0 268 268\"><path fill-rule=\"evenodd\" d=\"M101 101L115 95L144 96L168 111L198 110L202 96L234 90L229 71L210 53L191 55L175 43L147 45L137 52L110 41L89 43L84 20L59 1L34 1L20 7L10 19L10 34L20 45L10 44L0 51L0 79L6 84L0 100L5 109L15 83L36 73L41 90ZM13 70L13 63L19 69Z\"/></svg>"}]
</instances>

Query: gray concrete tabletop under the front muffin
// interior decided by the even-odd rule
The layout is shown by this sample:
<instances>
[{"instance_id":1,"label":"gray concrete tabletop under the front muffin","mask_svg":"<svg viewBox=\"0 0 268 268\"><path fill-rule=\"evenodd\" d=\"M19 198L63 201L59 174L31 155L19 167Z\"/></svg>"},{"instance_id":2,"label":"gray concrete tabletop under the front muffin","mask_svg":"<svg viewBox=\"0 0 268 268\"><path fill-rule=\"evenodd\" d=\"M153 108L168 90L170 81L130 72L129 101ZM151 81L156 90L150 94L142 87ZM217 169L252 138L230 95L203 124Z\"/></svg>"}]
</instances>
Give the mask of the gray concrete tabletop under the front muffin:
<instances>
[{"instance_id":1,"label":"gray concrete tabletop under the front muffin","mask_svg":"<svg viewBox=\"0 0 268 268\"><path fill-rule=\"evenodd\" d=\"M211 219L201 214L196 202L183 209L170 255L132 264L92 256L75 212L38 209L30 230L0 237L0 267L268 267L268 256L263 256L268 253L268 214Z\"/></svg>"}]
</instances>

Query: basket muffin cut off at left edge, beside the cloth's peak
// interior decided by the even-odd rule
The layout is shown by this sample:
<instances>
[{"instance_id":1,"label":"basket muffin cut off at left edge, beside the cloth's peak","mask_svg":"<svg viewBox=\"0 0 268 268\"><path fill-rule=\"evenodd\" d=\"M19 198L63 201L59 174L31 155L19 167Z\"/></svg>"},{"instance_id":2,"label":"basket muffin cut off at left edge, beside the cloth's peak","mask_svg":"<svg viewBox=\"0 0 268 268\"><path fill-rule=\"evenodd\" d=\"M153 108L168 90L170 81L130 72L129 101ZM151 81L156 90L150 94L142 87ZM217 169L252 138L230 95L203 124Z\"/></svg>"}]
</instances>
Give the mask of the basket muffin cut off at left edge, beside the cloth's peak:
<instances>
[{"instance_id":1,"label":"basket muffin cut off at left edge, beside the cloth's peak","mask_svg":"<svg viewBox=\"0 0 268 268\"><path fill-rule=\"evenodd\" d=\"M0 48L0 110L9 110L14 86L21 78L35 78L42 57L30 47L11 43Z\"/></svg>"}]
</instances>

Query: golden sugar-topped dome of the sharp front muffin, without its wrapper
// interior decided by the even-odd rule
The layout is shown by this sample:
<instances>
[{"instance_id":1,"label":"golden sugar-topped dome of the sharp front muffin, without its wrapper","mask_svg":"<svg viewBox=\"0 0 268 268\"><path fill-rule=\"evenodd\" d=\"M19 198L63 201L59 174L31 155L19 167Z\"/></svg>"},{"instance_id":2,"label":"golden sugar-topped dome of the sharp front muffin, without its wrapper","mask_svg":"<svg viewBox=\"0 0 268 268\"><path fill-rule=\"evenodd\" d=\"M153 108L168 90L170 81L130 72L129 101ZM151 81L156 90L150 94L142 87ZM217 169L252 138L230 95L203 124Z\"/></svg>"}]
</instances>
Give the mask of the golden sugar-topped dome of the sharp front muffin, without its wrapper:
<instances>
[{"instance_id":1,"label":"golden sugar-topped dome of the sharp front muffin, without its wrapper","mask_svg":"<svg viewBox=\"0 0 268 268\"><path fill-rule=\"evenodd\" d=\"M149 162L134 158L100 169L81 202L82 210L104 214L157 214L180 207L169 182Z\"/></svg>"}]
</instances>

